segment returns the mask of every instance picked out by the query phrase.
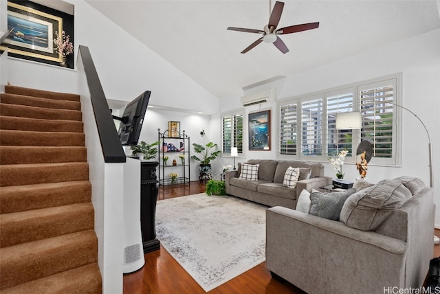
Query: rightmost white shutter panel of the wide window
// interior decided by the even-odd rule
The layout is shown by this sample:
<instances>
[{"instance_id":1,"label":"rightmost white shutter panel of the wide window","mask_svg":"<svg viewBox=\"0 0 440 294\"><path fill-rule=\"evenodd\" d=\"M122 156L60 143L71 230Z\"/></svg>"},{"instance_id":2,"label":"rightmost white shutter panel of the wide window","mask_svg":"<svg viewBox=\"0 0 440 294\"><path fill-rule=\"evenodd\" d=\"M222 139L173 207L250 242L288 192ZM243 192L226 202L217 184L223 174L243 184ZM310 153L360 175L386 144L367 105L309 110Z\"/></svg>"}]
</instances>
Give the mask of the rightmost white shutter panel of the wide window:
<instances>
[{"instance_id":1,"label":"rightmost white shutter panel of the wide window","mask_svg":"<svg viewBox=\"0 0 440 294\"><path fill-rule=\"evenodd\" d=\"M372 142L373 157L388 159L381 163L395 164L395 88L395 79L360 87L361 139Z\"/></svg>"}]
</instances>

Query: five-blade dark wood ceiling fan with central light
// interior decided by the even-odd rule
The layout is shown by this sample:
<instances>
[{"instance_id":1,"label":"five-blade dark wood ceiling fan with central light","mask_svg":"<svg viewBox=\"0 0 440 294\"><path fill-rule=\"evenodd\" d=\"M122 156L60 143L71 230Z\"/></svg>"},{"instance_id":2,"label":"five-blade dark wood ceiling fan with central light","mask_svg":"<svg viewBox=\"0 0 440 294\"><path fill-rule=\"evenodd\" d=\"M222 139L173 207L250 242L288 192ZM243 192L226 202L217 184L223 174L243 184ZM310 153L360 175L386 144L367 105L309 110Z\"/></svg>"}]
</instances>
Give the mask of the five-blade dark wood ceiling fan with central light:
<instances>
[{"instance_id":1,"label":"five-blade dark wood ceiling fan with central light","mask_svg":"<svg viewBox=\"0 0 440 294\"><path fill-rule=\"evenodd\" d=\"M284 2L276 1L274 5L274 9L270 14L269 23L265 25L263 30L244 29L242 27L228 27L228 30L232 30L232 31L263 34L261 38L259 38L257 41L249 45L241 53L248 52L250 49L256 47L256 45L259 45L259 43L264 41L265 43L273 43L275 47L277 47L281 52L283 52L283 54L286 54L287 52L289 52L289 49L287 48L283 40L281 40L281 38L278 37L278 35L303 32L307 30L313 30L319 27L319 23L303 23L302 25L291 25L289 27L283 27L281 29L276 30L276 26L280 22L281 14L283 13L283 8L284 8Z\"/></svg>"}]
</instances>

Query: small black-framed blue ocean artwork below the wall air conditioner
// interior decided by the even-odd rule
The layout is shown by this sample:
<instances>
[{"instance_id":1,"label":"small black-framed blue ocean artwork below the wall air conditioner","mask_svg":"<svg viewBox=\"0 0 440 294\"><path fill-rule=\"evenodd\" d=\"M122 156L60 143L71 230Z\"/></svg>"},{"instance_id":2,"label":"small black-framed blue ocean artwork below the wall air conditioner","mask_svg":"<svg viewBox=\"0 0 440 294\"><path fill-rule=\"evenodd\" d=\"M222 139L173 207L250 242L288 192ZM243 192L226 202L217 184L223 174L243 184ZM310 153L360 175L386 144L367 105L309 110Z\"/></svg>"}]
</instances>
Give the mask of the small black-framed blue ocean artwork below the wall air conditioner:
<instances>
[{"instance_id":1,"label":"small black-framed blue ocean artwork below the wall air conditioner","mask_svg":"<svg viewBox=\"0 0 440 294\"><path fill-rule=\"evenodd\" d=\"M249 150L270 150L270 110L249 113Z\"/></svg>"}]
</instances>

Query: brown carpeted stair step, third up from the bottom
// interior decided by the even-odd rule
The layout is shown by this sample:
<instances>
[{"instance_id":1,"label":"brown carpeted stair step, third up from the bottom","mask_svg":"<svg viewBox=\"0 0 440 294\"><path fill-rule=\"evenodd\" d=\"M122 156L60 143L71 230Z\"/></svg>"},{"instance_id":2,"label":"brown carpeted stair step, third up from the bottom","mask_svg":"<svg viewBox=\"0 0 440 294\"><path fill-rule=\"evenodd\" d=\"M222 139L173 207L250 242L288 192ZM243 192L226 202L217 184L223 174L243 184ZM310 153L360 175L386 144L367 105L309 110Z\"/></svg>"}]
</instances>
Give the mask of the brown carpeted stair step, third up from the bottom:
<instances>
[{"instance_id":1,"label":"brown carpeted stair step, third up from the bottom","mask_svg":"<svg viewBox=\"0 0 440 294\"><path fill-rule=\"evenodd\" d=\"M0 248L93 228L90 202L0 214Z\"/></svg>"}]
</instances>

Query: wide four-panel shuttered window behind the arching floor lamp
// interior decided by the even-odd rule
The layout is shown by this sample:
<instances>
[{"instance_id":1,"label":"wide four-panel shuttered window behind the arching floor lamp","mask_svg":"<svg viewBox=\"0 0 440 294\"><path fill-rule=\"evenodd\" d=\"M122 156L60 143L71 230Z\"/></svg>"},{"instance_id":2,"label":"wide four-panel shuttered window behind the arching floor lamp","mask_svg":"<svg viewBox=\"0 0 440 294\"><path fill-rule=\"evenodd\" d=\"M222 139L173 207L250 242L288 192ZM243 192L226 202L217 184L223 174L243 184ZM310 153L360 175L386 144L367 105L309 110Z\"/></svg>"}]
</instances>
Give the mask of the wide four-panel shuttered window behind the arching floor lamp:
<instances>
[{"instance_id":1,"label":"wide four-panel shuttered window behind the arching floor lamp","mask_svg":"<svg viewBox=\"0 0 440 294\"><path fill-rule=\"evenodd\" d=\"M399 112L393 104L399 101L398 79L394 76L278 102L280 157L327 161L340 150L349 150L348 162L355 162L358 144L369 140L375 164L396 165ZM362 130L336 129L336 114L349 111L362 113Z\"/></svg>"}]
</instances>

